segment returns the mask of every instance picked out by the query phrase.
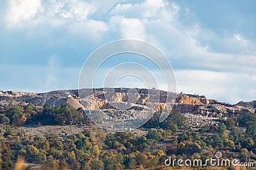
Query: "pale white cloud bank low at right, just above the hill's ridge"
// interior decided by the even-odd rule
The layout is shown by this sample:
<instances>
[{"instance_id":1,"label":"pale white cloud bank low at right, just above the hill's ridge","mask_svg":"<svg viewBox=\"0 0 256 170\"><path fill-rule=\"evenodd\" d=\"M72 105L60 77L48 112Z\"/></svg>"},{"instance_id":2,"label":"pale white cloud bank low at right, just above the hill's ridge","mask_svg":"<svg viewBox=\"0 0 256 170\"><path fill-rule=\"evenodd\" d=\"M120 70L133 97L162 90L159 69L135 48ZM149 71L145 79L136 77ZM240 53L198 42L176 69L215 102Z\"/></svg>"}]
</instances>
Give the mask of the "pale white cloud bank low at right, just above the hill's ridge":
<instances>
[{"instance_id":1,"label":"pale white cloud bank low at right, just above the hill's ridge","mask_svg":"<svg viewBox=\"0 0 256 170\"><path fill-rule=\"evenodd\" d=\"M256 96L256 80L250 74L188 69L175 74L177 92L200 93L230 103L250 101Z\"/></svg>"}]
</instances>

